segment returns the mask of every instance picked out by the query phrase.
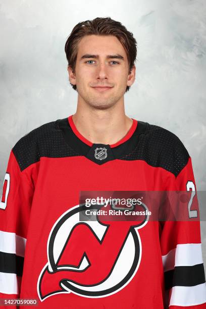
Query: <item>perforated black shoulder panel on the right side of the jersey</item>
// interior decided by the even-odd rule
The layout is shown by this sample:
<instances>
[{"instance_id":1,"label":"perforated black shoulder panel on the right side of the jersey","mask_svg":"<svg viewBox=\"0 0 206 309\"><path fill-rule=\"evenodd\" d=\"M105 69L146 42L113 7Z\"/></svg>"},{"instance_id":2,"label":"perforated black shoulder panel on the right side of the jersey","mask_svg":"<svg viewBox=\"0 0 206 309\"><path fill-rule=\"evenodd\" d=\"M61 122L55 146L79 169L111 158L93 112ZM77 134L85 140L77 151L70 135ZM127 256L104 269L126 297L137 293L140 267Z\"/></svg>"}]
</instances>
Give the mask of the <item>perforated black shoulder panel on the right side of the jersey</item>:
<instances>
[{"instance_id":1,"label":"perforated black shoulder panel on the right side of the jersey","mask_svg":"<svg viewBox=\"0 0 206 309\"><path fill-rule=\"evenodd\" d=\"M177 176L187 164L189 153L181 140L172 132L156 125L149 125L139 136L135 149L121 160L144 160L153 167Z\"/></svg>"}]
</instances>

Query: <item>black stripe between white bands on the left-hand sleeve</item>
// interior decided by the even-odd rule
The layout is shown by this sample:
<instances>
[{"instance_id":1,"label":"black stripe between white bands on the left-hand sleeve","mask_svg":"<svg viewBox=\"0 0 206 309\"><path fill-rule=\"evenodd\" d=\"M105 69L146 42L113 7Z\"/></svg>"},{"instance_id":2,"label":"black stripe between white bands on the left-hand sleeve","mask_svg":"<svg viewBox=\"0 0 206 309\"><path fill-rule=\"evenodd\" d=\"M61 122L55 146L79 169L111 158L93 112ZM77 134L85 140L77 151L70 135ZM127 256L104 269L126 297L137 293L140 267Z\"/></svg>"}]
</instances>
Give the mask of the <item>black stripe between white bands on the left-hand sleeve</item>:
<instances>
[{"instance_id":1,"label":"black stripe between white bands on the left-hand sleeve","mask_svg":"<svg viewBox=\"0 0 206 309\"><path fill-rule=\"evenodd\" d=\"M15 253L0 252L0 272L22 276L24 258Z\"/></svg>"}]
</instances>

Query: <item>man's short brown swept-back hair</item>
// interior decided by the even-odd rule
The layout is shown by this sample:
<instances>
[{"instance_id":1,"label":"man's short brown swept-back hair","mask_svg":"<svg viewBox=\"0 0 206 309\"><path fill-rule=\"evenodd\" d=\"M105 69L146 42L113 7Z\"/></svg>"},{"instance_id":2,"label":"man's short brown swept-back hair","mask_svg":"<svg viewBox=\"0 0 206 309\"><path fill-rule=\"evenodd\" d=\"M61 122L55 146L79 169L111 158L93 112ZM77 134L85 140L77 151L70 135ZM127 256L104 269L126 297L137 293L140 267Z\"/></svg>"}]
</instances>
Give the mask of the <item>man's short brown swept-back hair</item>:
<instances>
[{"instance_id":1,"label":"man's short brown swept-back hair","mask_svg":"<svg viewBox=\"0 0 206 309\"><path fill-rule=\"evenodd\" d=\"M75 72L78 42L85 35L92 34L114 35L119 39L126 50L130 73L137 56L137 42L133 37L132 32L129 32L126 27L122 25L122 23L115 21L110 17L97 17L93 20L86 20L78 23L73 28L65 44L65 53L68 60L68 66L72 68L73 72ZM72 85L72 87L74 90L77 90L76 85ZM129 88L130 86L127 86L126 92Z\"/></svg>"}]
</instances>

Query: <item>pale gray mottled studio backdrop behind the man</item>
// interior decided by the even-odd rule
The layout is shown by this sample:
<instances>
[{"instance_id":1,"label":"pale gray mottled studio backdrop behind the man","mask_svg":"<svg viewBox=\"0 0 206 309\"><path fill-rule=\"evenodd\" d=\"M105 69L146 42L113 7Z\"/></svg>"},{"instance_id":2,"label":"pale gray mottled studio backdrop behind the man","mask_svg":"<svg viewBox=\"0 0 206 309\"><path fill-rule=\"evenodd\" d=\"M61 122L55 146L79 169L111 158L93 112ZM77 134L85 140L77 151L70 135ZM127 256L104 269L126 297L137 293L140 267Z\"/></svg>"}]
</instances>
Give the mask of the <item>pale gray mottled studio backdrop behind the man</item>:
<instances>
[{"instance_id":1,"label":"pale gray mottled studio backdrop behind the man","mask_svg":"<svg viewBox=\"0 0 206 309\"><path fill-rule=\"evenodd\" d=\"M0 184L17 140L76 110L64 45L78 22L110 16L138 43L126 114L174 132L205 190L206 3L204 0L1 0ZM206 224L201 222L206 263ZM205 264L206 267L206 264Z\"/></svg>"}]
</instances>

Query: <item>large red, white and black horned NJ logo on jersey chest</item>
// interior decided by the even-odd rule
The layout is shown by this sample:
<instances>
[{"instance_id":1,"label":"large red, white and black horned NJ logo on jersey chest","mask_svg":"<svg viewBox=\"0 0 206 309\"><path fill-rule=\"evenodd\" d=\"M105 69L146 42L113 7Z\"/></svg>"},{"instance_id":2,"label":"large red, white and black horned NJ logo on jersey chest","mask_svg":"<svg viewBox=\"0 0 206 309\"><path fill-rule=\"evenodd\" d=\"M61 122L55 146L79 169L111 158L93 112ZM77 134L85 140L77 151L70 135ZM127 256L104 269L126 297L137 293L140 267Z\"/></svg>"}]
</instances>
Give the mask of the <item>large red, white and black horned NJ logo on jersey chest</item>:
<instances>
[{"instance_id":1,"label":"large red, white and black horned NJ logo on jersey chest","mask_svg":"<svg viewBox=\"0 0 206 309\"><path fill-rule=\"evenodd\" d=\"M146 206L142 203L146 210ZM90 210L100 210L93 205ZM88 210L77 205L64 213L50 231L47 242L48 263L37 282L41 301L58 293L84 297L106 297L124 288L135 276L141 260L138 229L142 222L79 221Z\"/></svg>"}]
</instances>

